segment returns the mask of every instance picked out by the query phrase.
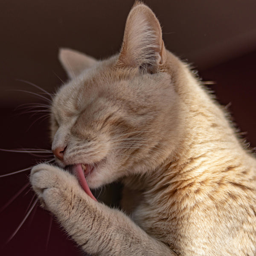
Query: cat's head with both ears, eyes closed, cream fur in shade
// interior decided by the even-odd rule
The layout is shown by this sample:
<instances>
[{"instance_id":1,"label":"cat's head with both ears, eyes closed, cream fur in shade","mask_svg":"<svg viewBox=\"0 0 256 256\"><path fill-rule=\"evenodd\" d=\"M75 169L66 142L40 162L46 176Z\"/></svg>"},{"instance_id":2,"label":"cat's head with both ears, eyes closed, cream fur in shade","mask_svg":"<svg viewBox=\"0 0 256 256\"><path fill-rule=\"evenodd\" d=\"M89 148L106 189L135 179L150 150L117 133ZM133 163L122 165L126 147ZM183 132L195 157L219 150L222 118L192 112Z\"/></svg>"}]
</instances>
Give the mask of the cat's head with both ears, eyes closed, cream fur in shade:
<instances>
[{"instance_id":1,"label":"cat's head with both ears, eyes closed, cream fur in shade","mask_svg":"<svg viewBox=\"0 0 256 256\"><path fill-rule=\"evenodd\" d=\"M56 161L87 166L96 188L149 172L173 154L179 111L168 55L157 18L140 3L128 15L119 54L97 61L61 49L70 81L52 102Z\"/></svg>"}]
</instances>

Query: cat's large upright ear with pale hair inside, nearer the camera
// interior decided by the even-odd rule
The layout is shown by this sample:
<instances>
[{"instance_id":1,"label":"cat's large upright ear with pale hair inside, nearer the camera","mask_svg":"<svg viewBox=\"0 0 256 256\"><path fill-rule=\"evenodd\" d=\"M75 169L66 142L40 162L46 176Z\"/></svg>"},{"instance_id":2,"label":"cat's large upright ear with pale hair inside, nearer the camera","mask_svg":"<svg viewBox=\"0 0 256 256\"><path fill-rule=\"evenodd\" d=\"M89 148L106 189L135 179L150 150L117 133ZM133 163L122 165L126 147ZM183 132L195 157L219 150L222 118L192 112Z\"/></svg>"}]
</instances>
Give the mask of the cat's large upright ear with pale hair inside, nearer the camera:
<instances>
[{"instance_id":1,"label":"cat's large upright ear with pale hair inside, nearer the camera","mask_svg":"<svg viewBox=\"0 0 256 256\"><path fill-rule=\"evenodd\" d=\"M154 73L163 68L165 62L166 49L160 23L148 6L136 4L126 20L117 66L139 67Z\"/></svg>"}]
</instances>

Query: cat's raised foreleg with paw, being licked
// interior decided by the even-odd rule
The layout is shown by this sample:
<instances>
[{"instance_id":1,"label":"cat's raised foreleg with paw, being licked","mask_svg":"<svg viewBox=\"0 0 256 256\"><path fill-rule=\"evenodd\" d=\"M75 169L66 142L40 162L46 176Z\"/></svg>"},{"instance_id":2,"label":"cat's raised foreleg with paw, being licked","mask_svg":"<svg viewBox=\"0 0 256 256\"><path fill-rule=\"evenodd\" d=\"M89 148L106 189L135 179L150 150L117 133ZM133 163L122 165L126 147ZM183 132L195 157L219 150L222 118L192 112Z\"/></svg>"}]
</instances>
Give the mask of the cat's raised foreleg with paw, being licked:
<instances>
[{"instance_id":1,"label":"cat's raised foreleg with paw, being licked","mask_svg":"<svg viewBox=\"0 0 256 256\"><path fill-rule=\"evenodd\" d=\"M102 256L176 255L119 210L90 198L69 172L39 164L33 167L30 182L41 204L85 252Z\"/></svg>"}]
</instances>

